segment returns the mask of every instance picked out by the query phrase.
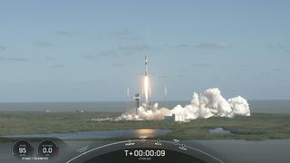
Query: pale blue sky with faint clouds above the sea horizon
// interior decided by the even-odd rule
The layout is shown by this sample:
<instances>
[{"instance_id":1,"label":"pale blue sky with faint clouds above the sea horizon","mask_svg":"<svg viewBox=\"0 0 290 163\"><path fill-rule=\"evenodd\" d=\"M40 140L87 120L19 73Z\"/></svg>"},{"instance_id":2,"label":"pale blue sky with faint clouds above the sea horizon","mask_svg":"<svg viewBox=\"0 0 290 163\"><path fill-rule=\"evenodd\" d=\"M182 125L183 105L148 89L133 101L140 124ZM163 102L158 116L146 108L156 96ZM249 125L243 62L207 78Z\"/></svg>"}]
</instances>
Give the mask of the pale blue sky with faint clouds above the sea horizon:
<instances>
[{"instance_id":1,"label":"pale blue sky with faint clouds above the sea horizon","mask_svg":"<svg viewBox=\"0 0 290 163\"><path fill-rule=\"evenodd\" d=\"M0 1L0 101L290 99L289 1Z\"/></svg>"}]
</instances>

